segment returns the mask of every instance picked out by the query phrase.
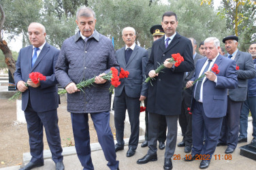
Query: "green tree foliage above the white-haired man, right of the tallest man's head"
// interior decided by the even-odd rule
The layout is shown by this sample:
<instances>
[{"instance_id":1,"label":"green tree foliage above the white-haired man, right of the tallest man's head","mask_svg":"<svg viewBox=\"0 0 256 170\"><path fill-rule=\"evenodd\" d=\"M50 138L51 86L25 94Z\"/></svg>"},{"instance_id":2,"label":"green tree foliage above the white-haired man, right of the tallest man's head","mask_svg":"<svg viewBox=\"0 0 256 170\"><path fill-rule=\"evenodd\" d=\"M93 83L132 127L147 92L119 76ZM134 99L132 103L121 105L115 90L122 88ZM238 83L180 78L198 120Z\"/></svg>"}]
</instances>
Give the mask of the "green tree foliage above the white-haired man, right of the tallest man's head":
<instances>
[{"instance_id":1,"label":"green tree foliage above the white-haired man, right of the tallest man's head","mask_svg":"<svg viewBox=\"0 0 256 170\"><path fill-rule=\"evenodd\" d=\"M207 37L217 37L221 41L228 34L225 18L218 16L212 5L200 3L199 0L170 1L170 10L178 16L178 33L195 38L197 44Z\"/></svg>"}]
</instances>

